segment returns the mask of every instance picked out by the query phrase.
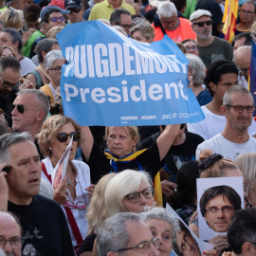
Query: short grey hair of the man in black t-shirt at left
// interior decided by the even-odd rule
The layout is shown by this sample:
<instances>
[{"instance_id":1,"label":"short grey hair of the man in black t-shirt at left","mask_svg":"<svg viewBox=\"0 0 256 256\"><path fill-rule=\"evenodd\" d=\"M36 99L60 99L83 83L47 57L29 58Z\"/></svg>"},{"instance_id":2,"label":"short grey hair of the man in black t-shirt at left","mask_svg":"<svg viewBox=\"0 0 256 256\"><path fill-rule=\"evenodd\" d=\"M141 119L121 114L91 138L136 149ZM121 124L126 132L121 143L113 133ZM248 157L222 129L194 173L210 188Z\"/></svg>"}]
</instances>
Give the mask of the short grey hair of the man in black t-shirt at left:
<instances>
[{"instance_id":1,"label":"short grey hair of the man in black t-shirt at left","mask_svg":"<svg viewBox=\"0 0 256 256\"><path fill-rule=\"evenodd\" d=\"M0 137L0 163L9 163L9 146L30 140L34 143L33 138L28 132L9 133Z\"/></svg>"}]
</instances>

